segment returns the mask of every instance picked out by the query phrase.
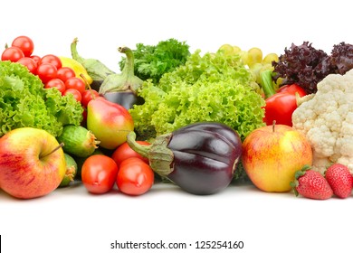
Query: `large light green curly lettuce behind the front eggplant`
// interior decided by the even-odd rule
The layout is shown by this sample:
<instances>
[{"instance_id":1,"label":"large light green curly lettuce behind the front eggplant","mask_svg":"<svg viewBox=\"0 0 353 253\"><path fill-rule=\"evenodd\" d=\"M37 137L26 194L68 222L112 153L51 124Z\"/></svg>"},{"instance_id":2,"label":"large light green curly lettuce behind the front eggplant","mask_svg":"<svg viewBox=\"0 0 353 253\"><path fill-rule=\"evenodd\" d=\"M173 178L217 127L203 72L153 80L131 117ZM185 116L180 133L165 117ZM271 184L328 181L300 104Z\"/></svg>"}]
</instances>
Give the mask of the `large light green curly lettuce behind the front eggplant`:
<instances>
[{"instance_id":1,"label":"large light green curly lettuce behind the front eggplant","mask_svg":"<svg viewBox=\"0 0 353 253\"><path fill-rule=\"evenodd\" d=\"M185 65L144 81L138 96L145 103L129 109L141 139L170 133L200 121L221 122L242 140L264 126L264 99L251 86L251 74L238 55L223 52L191 54Z\"/></svg>"}]
</instances>

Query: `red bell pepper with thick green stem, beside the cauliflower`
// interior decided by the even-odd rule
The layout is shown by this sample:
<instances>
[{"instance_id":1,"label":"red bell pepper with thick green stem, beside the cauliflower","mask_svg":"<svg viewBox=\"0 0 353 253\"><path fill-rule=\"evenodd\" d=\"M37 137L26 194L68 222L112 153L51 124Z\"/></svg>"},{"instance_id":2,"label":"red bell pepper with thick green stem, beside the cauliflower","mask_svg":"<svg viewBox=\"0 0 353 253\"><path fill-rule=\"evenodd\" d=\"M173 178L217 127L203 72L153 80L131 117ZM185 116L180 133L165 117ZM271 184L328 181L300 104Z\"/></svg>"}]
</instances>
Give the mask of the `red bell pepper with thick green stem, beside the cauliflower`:
<instances>
[{"instance_id":1,"label":"red bell pepper with thick green stem, beside the cauliflower","mask_svg":"<svg viewBox=\"0 0 353 253\"><path fill-rule=\"evenodd\" d=\"M296 93L298 93L300 97L307 94L304 89L297 84L282 86L277 92L275 92L272 87L271 74L272 72L268 70L262 72L262 89L266 98L263 121L266 125L272 125L273 120L275 120L276 124L292 126L291 115L297 108ZM271 80L269 77L271 77Z\"/></svg>"}]
</instances>

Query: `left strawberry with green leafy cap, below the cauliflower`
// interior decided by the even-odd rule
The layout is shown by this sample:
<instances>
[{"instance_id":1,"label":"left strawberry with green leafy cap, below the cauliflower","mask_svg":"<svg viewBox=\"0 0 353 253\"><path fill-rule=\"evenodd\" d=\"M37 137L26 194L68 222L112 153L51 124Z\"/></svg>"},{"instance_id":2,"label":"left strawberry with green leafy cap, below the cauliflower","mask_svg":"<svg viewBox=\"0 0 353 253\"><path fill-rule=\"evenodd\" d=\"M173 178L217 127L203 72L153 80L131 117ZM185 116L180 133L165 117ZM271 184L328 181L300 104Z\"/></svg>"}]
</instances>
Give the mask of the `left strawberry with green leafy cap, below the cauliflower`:
<instances>
[{"instance_id":1,"label":"left strawberry with green leafy cap, below the cauliflower","mask_svg":"<svg viewBox=\"0 0 353 253\"><path fill-rule=\"evenodd\" d=\"M305 165L295 173L295 181L291 182L291 187L296 196L301 194L303 197L314 200L327 200L333 195L333 191L325 177Z\"/></svg>"}]
</instances>

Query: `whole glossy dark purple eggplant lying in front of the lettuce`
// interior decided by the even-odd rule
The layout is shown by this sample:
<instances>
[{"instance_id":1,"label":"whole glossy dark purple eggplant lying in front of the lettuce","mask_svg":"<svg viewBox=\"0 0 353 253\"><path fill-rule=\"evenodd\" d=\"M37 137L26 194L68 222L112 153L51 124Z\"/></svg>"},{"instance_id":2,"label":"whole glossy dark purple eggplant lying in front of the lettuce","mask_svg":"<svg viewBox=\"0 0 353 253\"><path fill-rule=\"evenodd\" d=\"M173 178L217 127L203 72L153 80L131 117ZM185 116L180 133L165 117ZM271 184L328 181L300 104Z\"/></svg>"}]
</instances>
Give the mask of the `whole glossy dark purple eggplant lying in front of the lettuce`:
<instances>
[{"instance_id":1,"label":"whole glossy dark purple eggplant lying in front of the lettuce","mask_svg":"<svg viewBox=\"0 0 353 253\"><path fill-rule=\"evenodd\" d=\"M231 127L198 122L157 136L151 145L138 145L130 132L127 142L148 157L152 170L196 195L224 190L232 182L242 155L242 141Z\"/></svg>"}]
</instances>

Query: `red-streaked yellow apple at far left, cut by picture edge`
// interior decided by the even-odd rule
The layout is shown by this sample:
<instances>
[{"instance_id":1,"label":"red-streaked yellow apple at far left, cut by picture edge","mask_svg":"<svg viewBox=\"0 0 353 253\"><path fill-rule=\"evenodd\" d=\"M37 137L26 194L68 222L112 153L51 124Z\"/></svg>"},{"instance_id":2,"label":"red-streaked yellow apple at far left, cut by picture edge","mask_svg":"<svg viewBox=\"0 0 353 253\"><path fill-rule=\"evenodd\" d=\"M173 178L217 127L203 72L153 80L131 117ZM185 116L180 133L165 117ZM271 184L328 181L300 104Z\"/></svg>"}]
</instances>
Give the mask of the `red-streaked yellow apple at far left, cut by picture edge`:
<instances>
[{"instance_id":1,"label":"red-streaked yellow apple at far left, cut by picture edge","mask_svg":"<svg viewBox=\"0 0 353 253\"><path fill-rule=\"evenodd\" d=\"M0 188L19 199L55 190L66 172L61 145L47 131L14 129L0 138Z\"/></svg>"}]
</instances>

